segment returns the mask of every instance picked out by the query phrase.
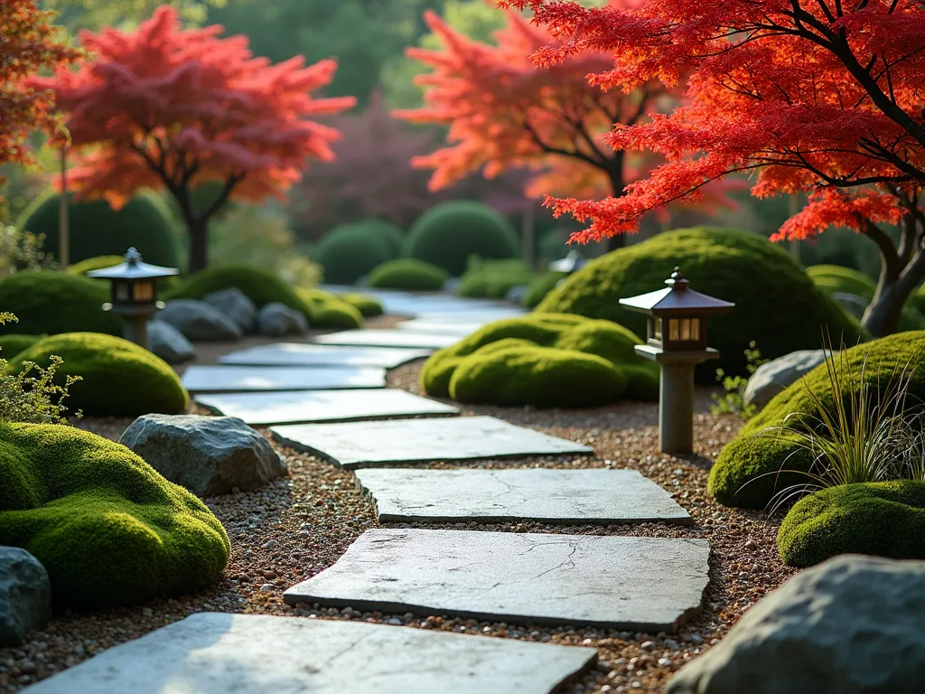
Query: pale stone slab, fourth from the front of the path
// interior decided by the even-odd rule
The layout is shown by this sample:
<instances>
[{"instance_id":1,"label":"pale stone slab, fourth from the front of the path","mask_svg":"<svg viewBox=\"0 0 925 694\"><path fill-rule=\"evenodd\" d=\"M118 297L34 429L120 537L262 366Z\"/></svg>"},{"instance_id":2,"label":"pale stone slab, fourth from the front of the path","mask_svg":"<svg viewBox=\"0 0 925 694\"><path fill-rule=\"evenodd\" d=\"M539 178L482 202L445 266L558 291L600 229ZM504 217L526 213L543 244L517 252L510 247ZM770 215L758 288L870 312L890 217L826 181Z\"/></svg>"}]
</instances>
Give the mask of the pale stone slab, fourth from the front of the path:
<instances>
[{"instance_id":1,"label":"pale stone slab, fourth from the front of the path","mask_svg":"<svg viewBox=\"0 0 925 694\"><path fill-rule=\"evenodd\" d=\"M490 416L274 427L277 440L348 470L393 463L589 453L593 449Z\"/></svg>"}]
</instances>

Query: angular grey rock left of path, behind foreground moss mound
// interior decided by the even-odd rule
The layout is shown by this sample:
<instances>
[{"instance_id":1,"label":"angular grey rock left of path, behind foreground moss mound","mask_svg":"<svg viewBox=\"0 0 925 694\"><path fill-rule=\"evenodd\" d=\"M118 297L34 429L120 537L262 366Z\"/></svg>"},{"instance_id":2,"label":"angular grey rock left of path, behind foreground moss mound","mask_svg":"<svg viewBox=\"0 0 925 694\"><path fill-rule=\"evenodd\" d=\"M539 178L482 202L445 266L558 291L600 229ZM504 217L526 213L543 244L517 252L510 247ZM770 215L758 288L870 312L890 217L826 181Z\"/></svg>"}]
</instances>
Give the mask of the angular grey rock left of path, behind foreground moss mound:
<instances>
[{"instance_id":1,"label":"angular grey rock left of path, behind foreground moss mound","mask_svg":"<svg viewBox=\"0 0 925 694\"><path fill-rule=\"evenodd\" d=\"M254 490L286 474L282 456L237 417L143 415L119 443L203 497Z\"/></svg>"}]
</instances>

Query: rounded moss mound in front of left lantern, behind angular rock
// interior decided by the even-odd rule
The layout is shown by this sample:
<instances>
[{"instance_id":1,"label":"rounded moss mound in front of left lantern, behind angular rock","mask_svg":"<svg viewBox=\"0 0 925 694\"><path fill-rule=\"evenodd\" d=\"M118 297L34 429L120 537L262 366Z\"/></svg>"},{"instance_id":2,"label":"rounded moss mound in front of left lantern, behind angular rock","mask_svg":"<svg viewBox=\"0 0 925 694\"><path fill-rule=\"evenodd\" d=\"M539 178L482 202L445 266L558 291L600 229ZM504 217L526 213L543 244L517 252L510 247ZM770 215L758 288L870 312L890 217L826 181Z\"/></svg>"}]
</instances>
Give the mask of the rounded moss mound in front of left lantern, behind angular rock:
<instances>
[{"instance_id":1,"label":"rounded moss mound in front of left lantern, behind angular rock","mask_svg":"<svg viewBox=\"0 0 925 694\"><path fill-rule=\"evenodd\" d=\"M48 366L54 355L64 360L56 382L63 385L68 376L81 378L70 387L66 404L71 412L95 416L186 412L188 396L177 373L134 342L111 335L69 332L44 338L11 359L10 370L19 373L25 362Z\"/></svg>"}]
</instances>

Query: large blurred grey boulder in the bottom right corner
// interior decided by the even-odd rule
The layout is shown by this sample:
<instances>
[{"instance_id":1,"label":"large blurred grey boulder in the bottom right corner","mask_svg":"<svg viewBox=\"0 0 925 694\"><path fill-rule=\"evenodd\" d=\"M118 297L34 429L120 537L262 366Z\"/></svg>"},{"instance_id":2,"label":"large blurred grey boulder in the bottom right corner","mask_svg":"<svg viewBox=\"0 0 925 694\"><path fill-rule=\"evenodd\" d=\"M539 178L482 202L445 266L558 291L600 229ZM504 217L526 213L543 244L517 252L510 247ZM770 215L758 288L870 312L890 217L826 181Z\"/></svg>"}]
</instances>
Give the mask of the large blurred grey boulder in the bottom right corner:
<instances>
[{"instance_id":1,"label":"large blurred grey boulder in the bottom right corner","mask_svg":"<svg viewBox=\"0 0 925 694\"><path fill-rule=\"evenodd\" d=\"M918 694L925 562L845 554L790 578L666 694Z\"/></svg>"}]
</instances>

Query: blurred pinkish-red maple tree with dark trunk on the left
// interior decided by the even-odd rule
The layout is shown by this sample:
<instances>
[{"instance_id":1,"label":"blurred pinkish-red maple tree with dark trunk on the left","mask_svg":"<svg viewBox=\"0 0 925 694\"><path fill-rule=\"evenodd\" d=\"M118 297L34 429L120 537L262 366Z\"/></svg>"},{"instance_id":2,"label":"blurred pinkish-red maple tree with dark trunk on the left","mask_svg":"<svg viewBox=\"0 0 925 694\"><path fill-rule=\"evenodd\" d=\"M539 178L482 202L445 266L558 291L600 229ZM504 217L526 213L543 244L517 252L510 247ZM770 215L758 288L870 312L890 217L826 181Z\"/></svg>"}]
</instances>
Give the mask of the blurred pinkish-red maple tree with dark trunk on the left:
<instances>
[{"instance_id":1,"label":"blurred pinkish-red maple tree with dark trunk on the left","mask_svg":"<svg viewBox=\"0 0 925 694\"><path fill-rule=\"evenodd\" d=\"M141 188L166 188L190 233L191 271L206 265L209 217L229 199L284 196L309 159L333 156L338 131L310 118L355 103L311 95L331 81L334 60L271 65L222 31L183 30L161 6L135 31L81 32L93 59L34 81L56 90L72 143L85 148L69 176L75 191L117 207ZM196 209L191 192L210 181L220 191Z\"/></svg>"}]
</instances>

